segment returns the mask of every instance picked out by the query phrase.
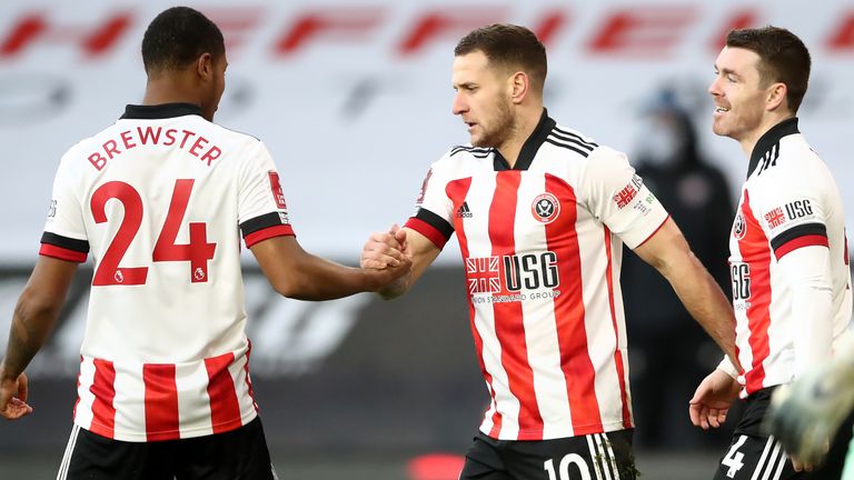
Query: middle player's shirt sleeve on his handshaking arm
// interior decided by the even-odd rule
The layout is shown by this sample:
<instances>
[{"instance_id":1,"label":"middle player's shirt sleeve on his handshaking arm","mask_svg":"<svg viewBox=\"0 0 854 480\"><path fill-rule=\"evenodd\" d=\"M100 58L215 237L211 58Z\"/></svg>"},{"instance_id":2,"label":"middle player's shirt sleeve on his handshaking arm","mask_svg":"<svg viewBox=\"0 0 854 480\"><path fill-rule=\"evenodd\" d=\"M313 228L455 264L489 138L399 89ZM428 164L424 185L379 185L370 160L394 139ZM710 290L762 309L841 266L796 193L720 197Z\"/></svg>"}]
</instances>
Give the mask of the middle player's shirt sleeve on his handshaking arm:
<instances>
[{"instance_id":1,"label":"middle player's shirt sleeve on his handshaking arm","mask_svg":"<svg viewBox=\"0 0 854 480\"><path fill-rule=\"evenodd\" d=\"M449 153L443 157L448 158ZM439 160L440 162L441 160ZM427 237L441 250L454 234L454 202L445 189L446 179L436 162L427 171L421 192L416 200L416 212L404 227Z\"/></svg>"}]
</instances>

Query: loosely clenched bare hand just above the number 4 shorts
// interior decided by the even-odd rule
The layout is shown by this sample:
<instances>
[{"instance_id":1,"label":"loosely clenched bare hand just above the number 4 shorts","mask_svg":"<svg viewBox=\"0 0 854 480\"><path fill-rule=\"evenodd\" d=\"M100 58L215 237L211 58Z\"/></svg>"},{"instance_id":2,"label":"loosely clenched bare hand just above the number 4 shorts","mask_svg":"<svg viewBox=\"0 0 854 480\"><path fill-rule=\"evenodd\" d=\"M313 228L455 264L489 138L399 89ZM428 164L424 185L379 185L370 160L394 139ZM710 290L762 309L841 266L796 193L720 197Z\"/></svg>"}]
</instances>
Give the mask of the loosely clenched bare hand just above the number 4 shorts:
<instances>
[{"instance_id":1,"label":"loosely clenched bare hand just above the number 4 shorts","mask_svg":"<svg viewBox=\"0 0 854 480\"><path fill-rule=\"evenodd\" d=\"M703 430L718 428L726 421L741 384L723 370L713 371L697 387L691 399L688 414L694 427Z\"/></svg>"}]
</instances>

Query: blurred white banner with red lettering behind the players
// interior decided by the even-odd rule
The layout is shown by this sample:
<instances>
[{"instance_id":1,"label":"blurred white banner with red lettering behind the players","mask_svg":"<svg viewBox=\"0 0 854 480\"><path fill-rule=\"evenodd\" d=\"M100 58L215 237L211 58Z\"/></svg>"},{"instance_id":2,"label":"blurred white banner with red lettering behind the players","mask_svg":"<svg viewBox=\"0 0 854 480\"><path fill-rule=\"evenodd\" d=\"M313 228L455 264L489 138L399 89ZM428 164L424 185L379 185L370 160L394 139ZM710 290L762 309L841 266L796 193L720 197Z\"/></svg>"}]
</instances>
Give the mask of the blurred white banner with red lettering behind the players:
<instances>
[{"instance_id":1,"label":"blurred white banner with red lettering behind the players","mask_svg":"<svg viewBox=\"0 0 854 480\"><path fill-rule=\"evenodd\" d=\"M51 24L50 34L13 56L0 56L0 264L33 261L53 171L66 149L115 121L126 103L141 100L142 32L170 4L0 3L0 46L24 16L38 12ZM712 102L706 87L719 50L715 40L743 11L753 11L756 24L790 28L811 48L814 61L801 111L802 131L834 171L848 224L854 218L854 193L847 187L854 173L848 149L854 134L854 47L828 47L843 23L854 21L854 2L256 0L246 7L235 0L214 0L190 4L215 18L229 43L227 93L216 121L267 143L281 172L298 239L315 253L357 262L371 231L403 222L413 212L429 164L453 144L467 142L464 126L450 112L453 48L465 31L451 30L408 56L399 51L404 39L434 12L534 29L543 18L562 12L565 22L547 42L546 104L552 117L599 143L632 153L642 106L662 84L676 84L694 109L704 151L733 183L733 197L744 178L746 159L733 140L708 131ZM318 36L296 52L277 53L276 46L292 31L295 21L317 9L337 9L345 18L366 19L374 27L361 36ZM625 9L659 20L687 11L691 20L633 37L633 44L639 46L651 34L663 39L665 47L655 52L593 51L592 41L615 12ZM106 53L87 56L79 32L91 32L120 13L132 19L127 31ZM64 92L63 100L44 108L50 103L46 96L57 89ZM457 259L451 252L440 258Z\"/></svg>"}]
</instances>

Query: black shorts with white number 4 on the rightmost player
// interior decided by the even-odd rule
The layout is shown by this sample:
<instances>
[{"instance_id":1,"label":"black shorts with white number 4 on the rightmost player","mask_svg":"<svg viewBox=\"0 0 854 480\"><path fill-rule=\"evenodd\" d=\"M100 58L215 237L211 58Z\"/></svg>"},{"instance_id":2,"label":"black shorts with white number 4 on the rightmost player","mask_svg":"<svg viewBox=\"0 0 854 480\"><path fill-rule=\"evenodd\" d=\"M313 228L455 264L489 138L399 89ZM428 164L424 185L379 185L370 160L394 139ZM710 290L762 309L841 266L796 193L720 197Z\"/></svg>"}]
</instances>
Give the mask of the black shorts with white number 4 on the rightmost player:
<instances>
[{"instance_id":1,"label":"black shorts with white number 4 on the rightmost player","mask_svg":"<svg viewBox=\"0 0 854 480\"><path fill-rule=\"evenodd\" d=\"M721 459L715 480L835 480L842 476L842 466L851 436L851 419L842 427L844 441L835 441L821 469L796 472L783 446L763 432L763 419L771 404L775 387L747 397L744 413L735 428L733 441Z\"/></svg>"}]
</instances>

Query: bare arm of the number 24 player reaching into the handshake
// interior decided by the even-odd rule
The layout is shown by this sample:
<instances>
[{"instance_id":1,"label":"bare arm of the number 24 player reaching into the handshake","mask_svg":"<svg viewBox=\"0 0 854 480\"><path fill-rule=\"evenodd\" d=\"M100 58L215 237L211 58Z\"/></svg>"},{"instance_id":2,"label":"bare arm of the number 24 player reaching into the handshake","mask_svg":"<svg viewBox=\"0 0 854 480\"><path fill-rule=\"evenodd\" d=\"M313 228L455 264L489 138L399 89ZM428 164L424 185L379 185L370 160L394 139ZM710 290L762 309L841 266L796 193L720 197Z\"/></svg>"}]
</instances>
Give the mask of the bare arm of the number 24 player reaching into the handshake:
<instances>
[{"instance_id":1,"label":"bare arm of the number 24 player reaching into the handshake","mask_svg":"<svg viewBox=\"0 0 854 480\"><path fill-rule=\"evenodd\" d=\"M292 236L259 241L250 250L272 288L299 300L331 300L377 291L408 272L411 266L398 253L381 270L345 267L308 253Z\"/></svg>"}]
</instances>

